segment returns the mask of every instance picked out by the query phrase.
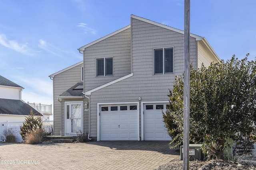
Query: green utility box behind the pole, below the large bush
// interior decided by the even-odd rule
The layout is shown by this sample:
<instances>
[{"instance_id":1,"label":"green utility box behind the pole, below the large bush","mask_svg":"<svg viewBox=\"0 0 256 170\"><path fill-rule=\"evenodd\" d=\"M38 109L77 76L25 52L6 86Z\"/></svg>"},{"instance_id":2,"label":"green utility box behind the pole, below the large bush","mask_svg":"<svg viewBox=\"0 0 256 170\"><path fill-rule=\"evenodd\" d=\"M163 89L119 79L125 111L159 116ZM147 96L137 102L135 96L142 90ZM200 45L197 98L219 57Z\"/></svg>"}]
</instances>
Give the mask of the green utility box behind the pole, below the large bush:
<instances>
[{"instance_id":1,"label":"green utility box behind the pole, below the large bush","mask_svg":"<svg viewBox=\"0 0 256 170\"><path fill-rule=\"evenodd\" d=\"M203 160L202 144L189 144L189 160ZM180 160L183 160L183 145L180 146Z\"/></svg>"}]
</instances>

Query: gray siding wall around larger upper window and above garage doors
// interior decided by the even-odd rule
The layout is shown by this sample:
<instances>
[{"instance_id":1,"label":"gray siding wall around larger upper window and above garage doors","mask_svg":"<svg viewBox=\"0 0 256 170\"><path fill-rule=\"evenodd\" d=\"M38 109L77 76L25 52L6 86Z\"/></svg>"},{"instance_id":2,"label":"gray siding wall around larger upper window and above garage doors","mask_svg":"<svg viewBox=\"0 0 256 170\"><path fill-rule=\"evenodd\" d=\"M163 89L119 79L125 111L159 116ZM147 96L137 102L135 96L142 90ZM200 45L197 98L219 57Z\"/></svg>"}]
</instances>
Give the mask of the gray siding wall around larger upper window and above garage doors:
<instances>
[{"instance_id":1,"label":"gray siding wall around larger upper window and above garage doors","mask_svg":"<svg viewBox=\"0 0 256 170\"><path fill-rule=\"evenodd\" d=\"M181 76L184 71L183 34L136 19L132 19L131 28L134 76L90 95L91 137L97 136L97 103L138 102L138 97L141 97L143 102L168 101L167 95L169 89L172 89L175 76ZM162 47L174 47L174 74L153 75L153 49ZM196 39L191 37L190 61L194 65L197 64L196 48ZM86 78L86 82L87 80Z\"/></svg>"}]
</instances>

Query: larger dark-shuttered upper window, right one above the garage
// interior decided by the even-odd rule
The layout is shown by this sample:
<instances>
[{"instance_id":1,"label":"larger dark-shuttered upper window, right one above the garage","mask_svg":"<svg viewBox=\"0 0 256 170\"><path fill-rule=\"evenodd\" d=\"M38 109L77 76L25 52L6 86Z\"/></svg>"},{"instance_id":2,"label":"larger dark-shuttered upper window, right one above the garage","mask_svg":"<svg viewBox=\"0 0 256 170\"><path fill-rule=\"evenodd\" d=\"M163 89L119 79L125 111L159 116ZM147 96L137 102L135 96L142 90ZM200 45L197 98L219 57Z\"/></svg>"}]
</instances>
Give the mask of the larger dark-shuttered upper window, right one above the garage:
<instances>
[{"instance_id":1,"label":"larger dark-shuttered upper window, right one above the garage","mask_svg":"<svg viewBox=\"0 0 256 170\"><path fill-rule=\"evenodd\" d=\"M173 47L154 49L154 74L173 73Z\"/></svg>"}]
</instances>

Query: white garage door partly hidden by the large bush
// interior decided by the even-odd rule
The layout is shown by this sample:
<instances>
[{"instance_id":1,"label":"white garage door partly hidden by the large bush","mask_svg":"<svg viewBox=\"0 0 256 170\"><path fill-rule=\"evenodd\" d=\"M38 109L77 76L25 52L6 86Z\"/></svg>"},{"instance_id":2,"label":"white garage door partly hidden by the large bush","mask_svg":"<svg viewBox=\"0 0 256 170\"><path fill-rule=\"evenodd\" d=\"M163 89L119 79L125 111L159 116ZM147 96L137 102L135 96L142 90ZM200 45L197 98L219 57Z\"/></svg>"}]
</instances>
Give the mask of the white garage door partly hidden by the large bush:
<instances>
[{"instance_id":1,"label":"white garage door partly hidden by the large bush","mask_svg":"<svg viewBox=\"0 0 256 170\"><path fill-rule=\"evenodd\" d=\"M171 141L163 122L166 104L144 104L144 140Z\"/></svg>"}]
</instances>

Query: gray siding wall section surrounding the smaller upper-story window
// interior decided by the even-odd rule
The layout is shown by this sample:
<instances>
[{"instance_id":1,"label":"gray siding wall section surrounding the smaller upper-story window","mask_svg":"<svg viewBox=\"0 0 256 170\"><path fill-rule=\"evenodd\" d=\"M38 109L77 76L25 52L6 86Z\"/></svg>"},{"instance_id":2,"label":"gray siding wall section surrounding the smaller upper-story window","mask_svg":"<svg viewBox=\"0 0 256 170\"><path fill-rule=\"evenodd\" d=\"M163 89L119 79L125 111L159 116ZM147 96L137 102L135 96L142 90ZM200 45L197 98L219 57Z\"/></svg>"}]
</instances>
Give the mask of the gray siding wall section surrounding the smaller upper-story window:
<instances>
[{"instance_id":1,"label":"gray siding wall section surrounding the smaller upper-story window","mask_svg":"<svg viewBox=\"0 0 256 170\"><path fill-rule=\"evenodd\" d=\"M129 74L131 72L130 46L129 28L87 47L84 51L85 90L91 90ZM96 58L103 57L113 57L113 76L96 77Z\"/></svg>"}]
</instances>

